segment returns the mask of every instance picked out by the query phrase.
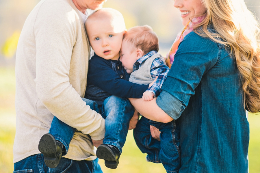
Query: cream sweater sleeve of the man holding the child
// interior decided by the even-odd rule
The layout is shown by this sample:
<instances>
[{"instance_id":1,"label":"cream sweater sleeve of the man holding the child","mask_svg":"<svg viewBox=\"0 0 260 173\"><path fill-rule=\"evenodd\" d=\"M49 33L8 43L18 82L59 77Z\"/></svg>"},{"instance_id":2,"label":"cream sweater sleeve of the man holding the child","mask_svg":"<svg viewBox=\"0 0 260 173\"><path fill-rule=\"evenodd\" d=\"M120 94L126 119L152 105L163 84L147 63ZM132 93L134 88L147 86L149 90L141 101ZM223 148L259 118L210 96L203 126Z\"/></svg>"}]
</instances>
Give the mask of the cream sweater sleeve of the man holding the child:
<instances>
[{"instance_id":1,"label":"cream sweater sleeve of the man holding the child","mask_svg":"<svg viewBox=\"0 0 260 173\"><path fill-rule=\"evenodd\" d=\"M100 140L105 133L104 119L82 101L68 77L73 46L81 37L79 17L69 7L59 8L43 3L36 17L36 93L62 122Z\"/></svg>"}]
</instances>

